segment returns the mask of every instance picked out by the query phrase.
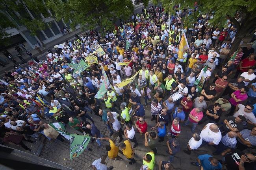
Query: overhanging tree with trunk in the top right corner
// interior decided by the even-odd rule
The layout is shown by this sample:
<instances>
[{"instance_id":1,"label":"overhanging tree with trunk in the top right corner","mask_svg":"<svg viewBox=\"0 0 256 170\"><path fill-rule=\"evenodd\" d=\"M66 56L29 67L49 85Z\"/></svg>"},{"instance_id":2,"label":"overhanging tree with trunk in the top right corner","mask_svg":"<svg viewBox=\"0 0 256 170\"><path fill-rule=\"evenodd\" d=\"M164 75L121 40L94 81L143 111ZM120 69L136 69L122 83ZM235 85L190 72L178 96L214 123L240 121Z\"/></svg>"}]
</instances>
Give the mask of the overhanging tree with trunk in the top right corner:
<instances>
[{"instance_id":1,"label":"overhanging tree with trunk in the top right corner","mask_svg":"<svg viewBox=\"0 0 256 170\"><path fill-rule=\"evenodd\" d=\"M254 0L161 0L167 13L175 13L175 4L180 4L181 10L195 9L194 3L197 2L198 10L192 15L186 16L184 24L189 26L197 21L198 16L213 13L213 18L209 20L210 26L225 27L229 19L237 27L236 38L232 44L231 54L237 50L241 40L247 33L256 27L256 3ZM239 13L241 21L236 20ZM175 14L174 14L175 15Z\"/></svg>"}]
</instances>

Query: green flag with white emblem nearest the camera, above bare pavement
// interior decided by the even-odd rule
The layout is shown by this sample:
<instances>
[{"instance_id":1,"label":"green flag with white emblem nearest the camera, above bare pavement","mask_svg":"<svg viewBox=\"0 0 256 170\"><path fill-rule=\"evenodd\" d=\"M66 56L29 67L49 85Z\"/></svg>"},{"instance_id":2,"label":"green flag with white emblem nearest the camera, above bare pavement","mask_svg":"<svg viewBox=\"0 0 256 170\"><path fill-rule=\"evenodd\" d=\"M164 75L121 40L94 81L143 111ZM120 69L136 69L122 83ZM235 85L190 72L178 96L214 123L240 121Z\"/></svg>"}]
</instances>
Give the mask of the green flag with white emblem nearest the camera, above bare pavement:
<instances>
[{"instance_id":1,"label":"green flag with white emblem nearest the camera, above bare pavement","mask_svg":"<svg viewBox=\"0 0 256 170\"><path fill-rule=\"evenodd\" d=\"M87 147L90 142L91 137L83 136L83 135L70 135L70 143L69 143L69 152L70 159L72 160L74 157L78 157Z\"/></svg>"}]
</instances>

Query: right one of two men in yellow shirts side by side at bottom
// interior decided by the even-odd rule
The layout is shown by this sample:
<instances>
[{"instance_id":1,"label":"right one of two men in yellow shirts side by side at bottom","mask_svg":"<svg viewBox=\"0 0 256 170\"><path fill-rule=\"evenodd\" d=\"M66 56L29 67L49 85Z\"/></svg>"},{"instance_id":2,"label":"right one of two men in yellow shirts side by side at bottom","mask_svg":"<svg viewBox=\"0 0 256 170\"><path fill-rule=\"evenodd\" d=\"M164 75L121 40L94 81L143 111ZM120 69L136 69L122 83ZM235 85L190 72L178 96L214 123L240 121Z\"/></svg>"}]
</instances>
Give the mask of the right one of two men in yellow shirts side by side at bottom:
<instances>
[{"instance_id":1,"label":"right one of two men in yellow shirts side by side at bottom","mask_svg":"<svg viewBox=\"0 0 256 170\"><path fill-rule=\"evenodd\" d=\"M123 143L119 145L119 148L122 150L122 154L130 160L129 164L133 165L136 163L134 159L134 149L132 148L132 145L130 141L126 140Z\"/></svg>"}]
</instances>

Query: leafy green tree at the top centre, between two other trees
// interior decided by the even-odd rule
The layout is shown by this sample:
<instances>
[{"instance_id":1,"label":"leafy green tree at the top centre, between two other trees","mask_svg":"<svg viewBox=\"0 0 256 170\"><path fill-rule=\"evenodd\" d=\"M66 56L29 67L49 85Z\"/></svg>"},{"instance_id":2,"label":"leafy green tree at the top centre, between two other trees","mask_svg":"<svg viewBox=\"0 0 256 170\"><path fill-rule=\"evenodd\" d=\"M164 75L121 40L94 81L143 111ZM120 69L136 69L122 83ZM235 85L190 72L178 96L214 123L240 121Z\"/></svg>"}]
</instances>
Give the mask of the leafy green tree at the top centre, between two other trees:
<instances>
[{"instance_id":1,"label":"leafy green tree at the top centre, between two other trees","mask_svg":"<svg viewBox=\"0 0 256 170\"><path fill-rule=\"evenodd\" d=\"M134 10L131 0L48 0L47 6L56 20L71 20L71 28L76 24L89 29L98 25L102 32L113 30L117 19L129 19Z\"/></svg>"}]
</instances>

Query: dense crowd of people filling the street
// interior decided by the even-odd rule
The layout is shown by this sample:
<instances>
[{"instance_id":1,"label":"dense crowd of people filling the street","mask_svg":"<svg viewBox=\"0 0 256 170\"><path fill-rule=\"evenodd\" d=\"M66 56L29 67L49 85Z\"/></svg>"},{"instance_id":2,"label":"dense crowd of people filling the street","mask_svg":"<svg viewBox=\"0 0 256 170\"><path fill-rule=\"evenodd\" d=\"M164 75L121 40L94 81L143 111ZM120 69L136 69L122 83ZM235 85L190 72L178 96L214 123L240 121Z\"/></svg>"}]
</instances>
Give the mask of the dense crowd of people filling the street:
<instances>
[{"instance_id":1,"label":"dense crowd of people filling the street","mask_svg":"<svg viewBox=\"0 0 256 170\"><path fill-rule=\"evenodd\" d=\"M191 154L202 146L214 146L216 150L191 162L201 170L221 170L222 164L228 170L254 169L254 49L251 44L239 47L234 60L229 60L233 55L230 48L236 35L235 23L227 20L225 28L210 27L208 21L214 16L209 14L200 15L193 27L182 26L183 17L193 10L177 11L169 21L162 7L149 7L105 36L97 31L76 35L74 41L66 41L62 51L48 52L45 61L33 60L29 66L6 72L0 85L1 142L25 150L31 149L23 141L33 143L42 136L64 142L66 139L49 125L61 122L78 134L96 137L98 148L102 148L102 140L109 141L104 146L108 157L121 161L124 155L130 165L136 163L134 150L140 145L135 135L144 136L144 146L151 151L141 158L141 170L154 169L158 143L164 142L169 158L158 163L159 170L173 170L178 152ZM237 14L237 22L239 19ZM181 57L178 50L182 34L187 35L190 46ZM94 54L98 64L74 73L68 64L85 60L98 46L105 52L101 56ZM109 86L102 99L97 99L95 95L106 79L102 68L113 88ZM119 86L137 72L133 82ZM194 84L200 73L205 82L202 91L197 92ZM70 103L72 110L67 112L61 101ZM145 112L147 108L150 112ZM106 124L108 137L97 128L99 124L95 124L91 113ZM148 126L148 117L155 126ZM205 126L201 130L198 124ZM189 126L193 135L187 141L187 149L181 151L179 136L184 126ZM113 133L119 136L119 146L110 139ZM215 155L222 155L223 160ZM95 160L89 170L113 168L101 161Z\"/></svg>"}]
</instances>

